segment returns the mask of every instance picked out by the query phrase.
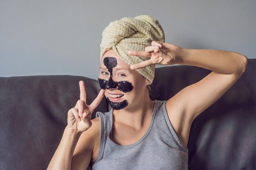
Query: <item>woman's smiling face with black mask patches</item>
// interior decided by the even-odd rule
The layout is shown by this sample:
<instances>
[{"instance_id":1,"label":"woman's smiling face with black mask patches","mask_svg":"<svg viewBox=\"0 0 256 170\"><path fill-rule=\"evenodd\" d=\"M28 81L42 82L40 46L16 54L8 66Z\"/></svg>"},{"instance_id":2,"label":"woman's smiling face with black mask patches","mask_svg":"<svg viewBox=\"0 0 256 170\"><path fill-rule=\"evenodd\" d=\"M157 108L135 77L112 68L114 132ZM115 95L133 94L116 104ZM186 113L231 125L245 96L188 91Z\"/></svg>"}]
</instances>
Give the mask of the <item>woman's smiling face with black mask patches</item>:
<instances>
[{"instance_id":1,"label":"woman's smiling face with black mask patches","mask_svg":"<svg viewBox=\"0 0 256 170\"><path fill-rule=\"evenodd\" d=\"M98 80L110 106L115 110L140 102L147 92L148 83L144 77L138 71L131 70L129 64L121 60L113 49L106 51L101 59Z\"/></svg>"}]
</instances>

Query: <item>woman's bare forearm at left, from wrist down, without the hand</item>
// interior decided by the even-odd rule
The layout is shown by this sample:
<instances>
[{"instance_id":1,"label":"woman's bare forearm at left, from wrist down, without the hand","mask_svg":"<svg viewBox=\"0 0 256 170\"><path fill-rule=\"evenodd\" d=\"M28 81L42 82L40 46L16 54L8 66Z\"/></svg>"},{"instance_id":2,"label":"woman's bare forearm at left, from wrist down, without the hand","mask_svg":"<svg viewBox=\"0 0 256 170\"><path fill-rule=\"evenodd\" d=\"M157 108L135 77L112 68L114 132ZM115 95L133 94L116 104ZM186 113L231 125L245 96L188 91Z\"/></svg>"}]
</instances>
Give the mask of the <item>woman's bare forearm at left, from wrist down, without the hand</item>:
<instances>
[{"instance_id":1,"label":"woman's bare forearm at left, from wrist down, without the hand","mask_svg":"<svg viewBox=\"0 0 256 170\"><path fill-rule=\"evenodd\" d=\"M71 170L73 153L81 133L72 134L66 126L61 142L50 161L47 170Z\"/></svg>"}]
</instances>

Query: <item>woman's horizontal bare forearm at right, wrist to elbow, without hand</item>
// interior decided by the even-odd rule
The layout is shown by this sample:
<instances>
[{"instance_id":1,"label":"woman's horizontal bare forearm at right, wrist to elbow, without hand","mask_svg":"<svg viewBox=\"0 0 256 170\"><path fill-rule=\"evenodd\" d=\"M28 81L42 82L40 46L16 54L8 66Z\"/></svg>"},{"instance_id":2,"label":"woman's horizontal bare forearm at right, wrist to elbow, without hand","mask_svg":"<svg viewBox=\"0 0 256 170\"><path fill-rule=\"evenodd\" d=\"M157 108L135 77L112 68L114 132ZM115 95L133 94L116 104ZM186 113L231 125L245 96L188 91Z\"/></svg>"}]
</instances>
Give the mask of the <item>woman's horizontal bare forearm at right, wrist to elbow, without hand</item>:
<instances>
[{"instance_id":1,"label":"woman's horizontal bare forearm at right, wrist to elbow, without hand","mask_svg":"<svg viewBox=\"0 0 256 170\"><path fill-rule=\"evenodd\" d=\"M184 49L177 64L206 68L219 74L243 73L247 57L243 54L215 49Z\"/></svg>"}]
</instances>

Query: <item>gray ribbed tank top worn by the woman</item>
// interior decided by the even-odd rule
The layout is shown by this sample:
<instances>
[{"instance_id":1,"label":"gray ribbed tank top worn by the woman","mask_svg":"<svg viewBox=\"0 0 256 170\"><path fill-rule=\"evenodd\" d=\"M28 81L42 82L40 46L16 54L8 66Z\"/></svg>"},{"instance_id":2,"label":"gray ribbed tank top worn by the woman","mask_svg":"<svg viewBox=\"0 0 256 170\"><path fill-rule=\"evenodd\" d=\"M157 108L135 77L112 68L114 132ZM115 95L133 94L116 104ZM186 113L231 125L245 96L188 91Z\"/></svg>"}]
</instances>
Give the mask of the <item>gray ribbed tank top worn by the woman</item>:
<instances>
[{"instance_id":1,"label":"gray ribbed tank top worn by the woman","mask_svg":"<svg viewBox=\"0 0 256 170\"><path fill-rule=\"evenodd\" d=\"M187 170L189 150L173 129L165 102L155 100L148 131L130 145L111 140L113 109L97 112L101 124L99 155L92 170Z\"/></svg>"}]
</instances>

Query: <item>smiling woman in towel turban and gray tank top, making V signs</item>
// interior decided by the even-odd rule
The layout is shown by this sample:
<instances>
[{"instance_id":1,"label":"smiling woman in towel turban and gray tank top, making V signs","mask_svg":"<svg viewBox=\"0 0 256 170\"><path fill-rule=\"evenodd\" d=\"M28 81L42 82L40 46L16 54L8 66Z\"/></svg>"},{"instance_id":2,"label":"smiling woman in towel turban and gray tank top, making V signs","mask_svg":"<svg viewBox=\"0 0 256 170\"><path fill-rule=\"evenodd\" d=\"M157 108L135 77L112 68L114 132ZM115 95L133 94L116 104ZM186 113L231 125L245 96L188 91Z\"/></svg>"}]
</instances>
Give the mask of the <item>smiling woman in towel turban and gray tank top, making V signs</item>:
<instances>
[{"instance_id":1,"label":"smiling woman in towel turban and gray tank top, making V signs","mask_svg":"<svg viewBox=\"0 0 256 170\"><path fill-rule=\"evenodd\" d=\"M152 101L156 64L212 72L166 101ZM85 84L79 82L80 99L68 111L67 127L47 170L84 170L89 163L92 170L186 170L193 120L235 84L246 66L247 57L239 53L164 42L162 27L148 15L111 22L101 42L102 89L88 105ZM112 109L91 119L104 95Z\"/></svg>"}]
</instances>

